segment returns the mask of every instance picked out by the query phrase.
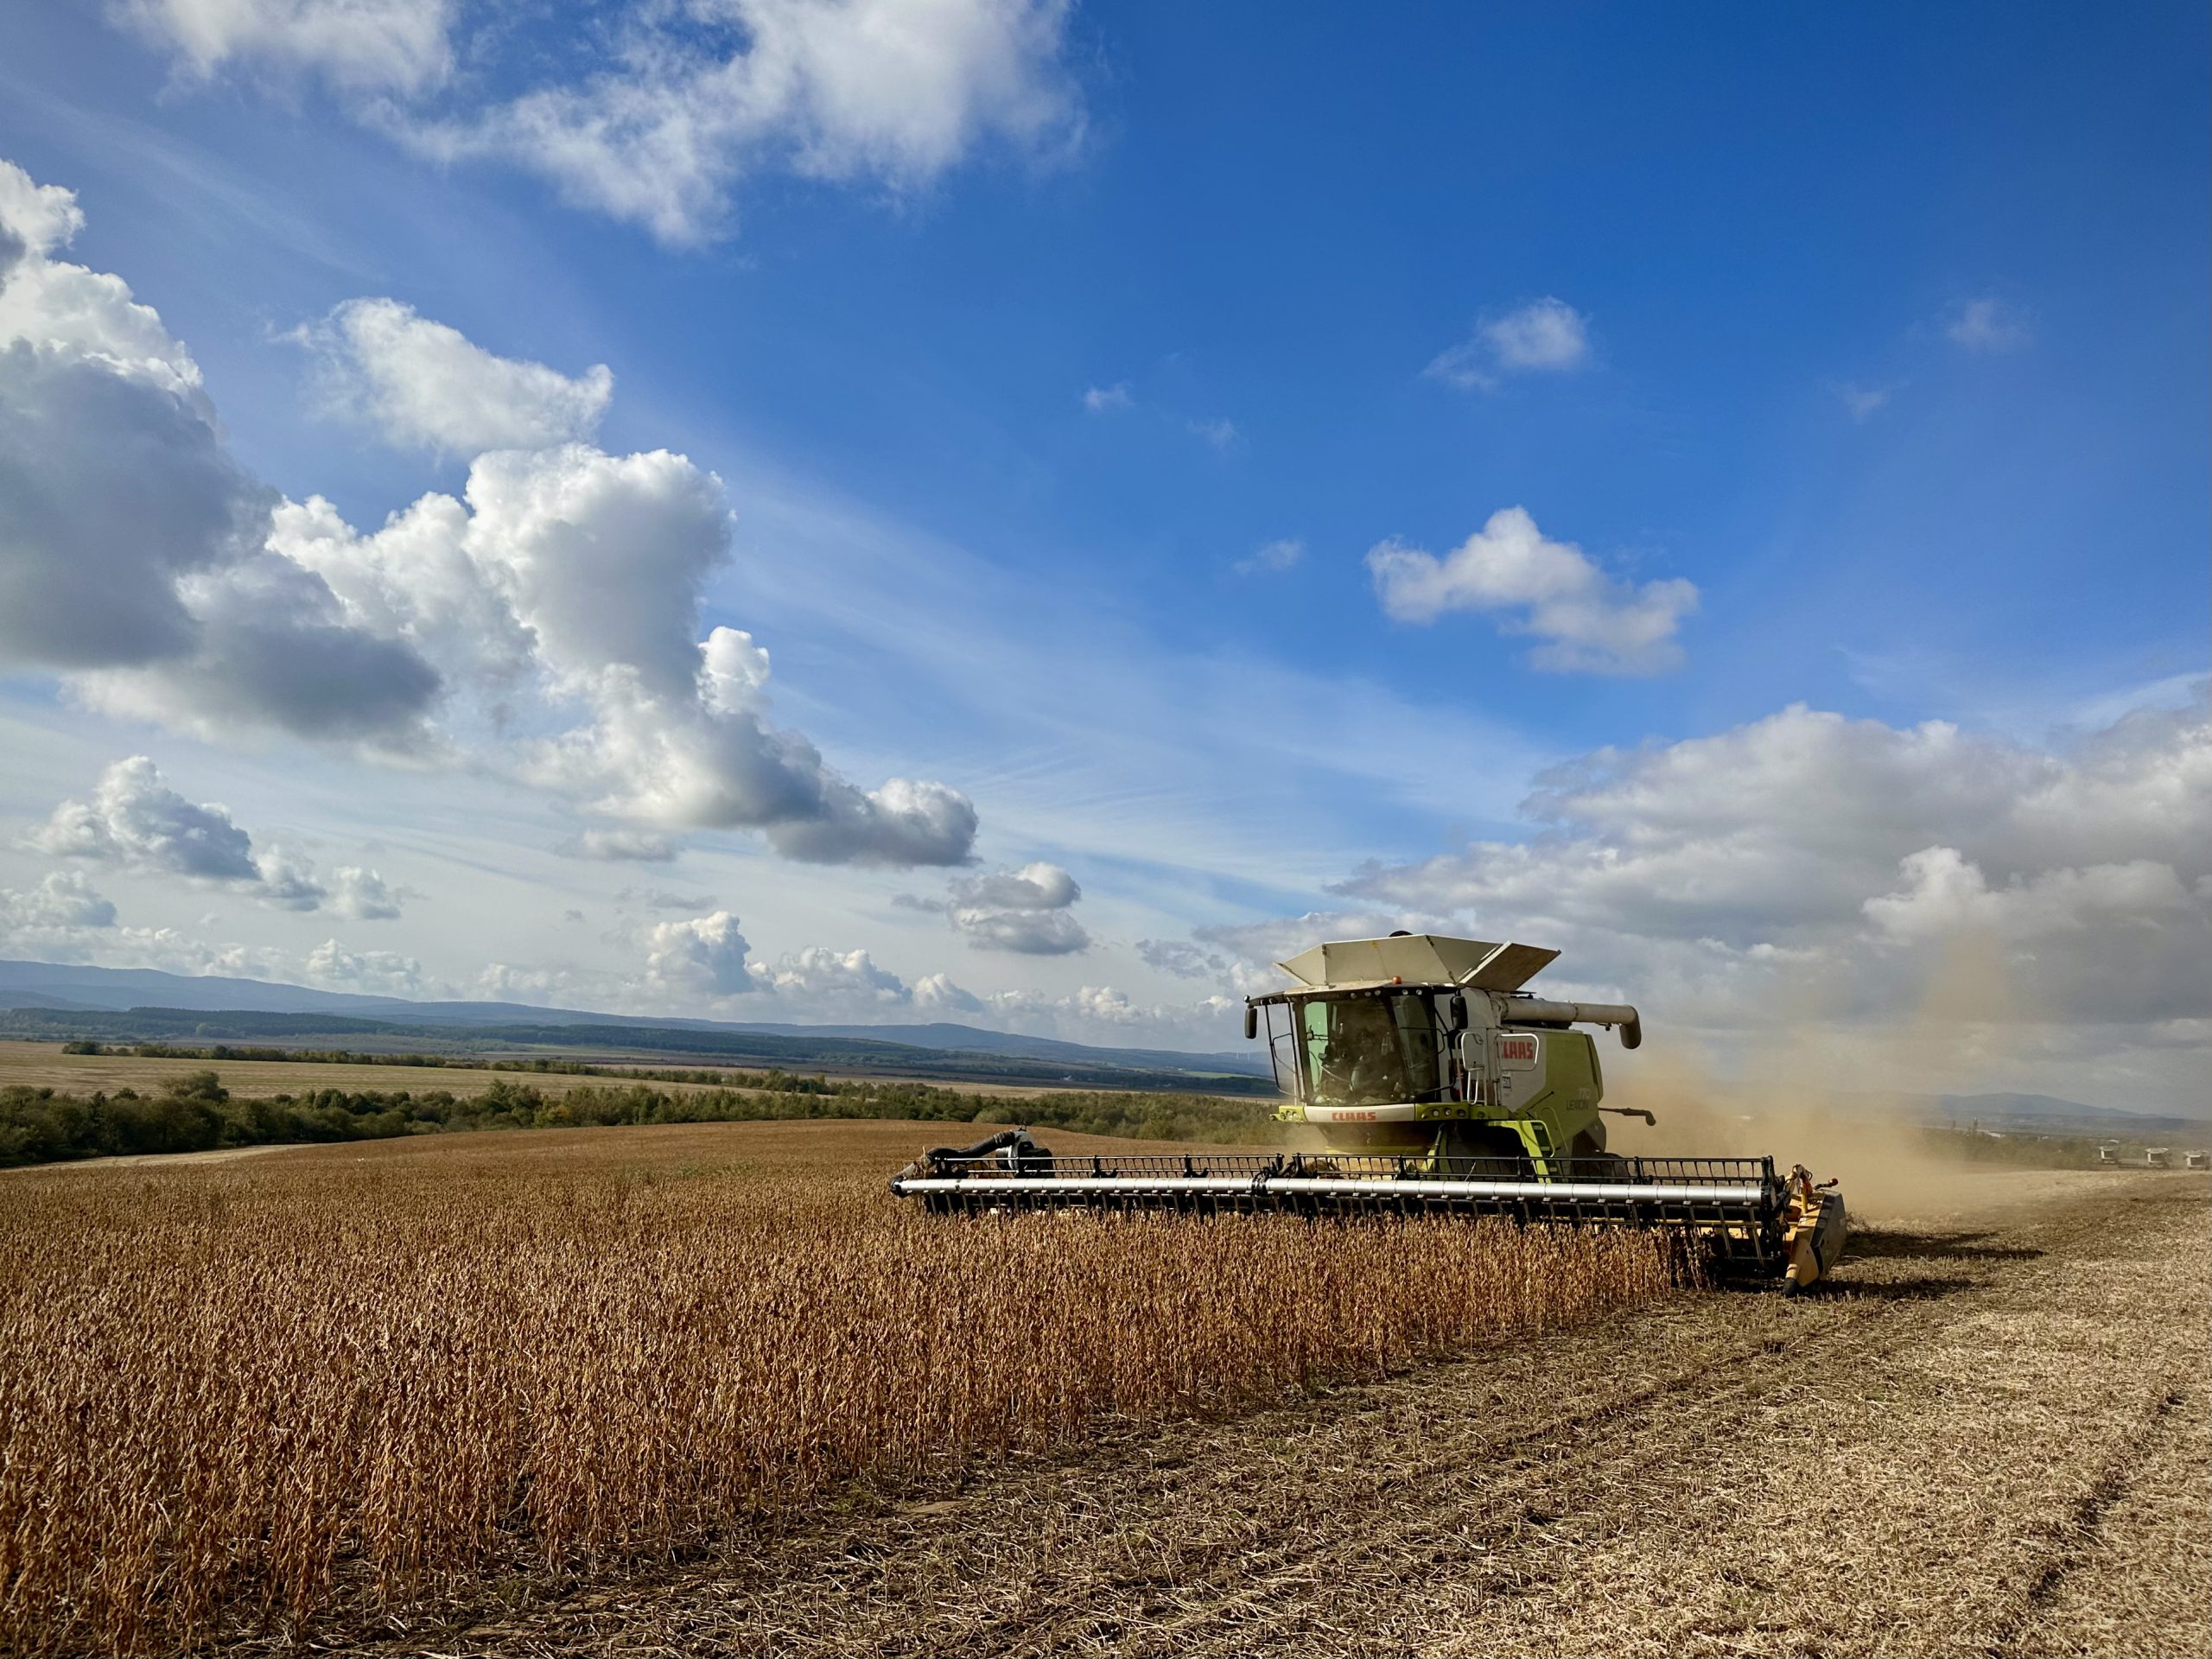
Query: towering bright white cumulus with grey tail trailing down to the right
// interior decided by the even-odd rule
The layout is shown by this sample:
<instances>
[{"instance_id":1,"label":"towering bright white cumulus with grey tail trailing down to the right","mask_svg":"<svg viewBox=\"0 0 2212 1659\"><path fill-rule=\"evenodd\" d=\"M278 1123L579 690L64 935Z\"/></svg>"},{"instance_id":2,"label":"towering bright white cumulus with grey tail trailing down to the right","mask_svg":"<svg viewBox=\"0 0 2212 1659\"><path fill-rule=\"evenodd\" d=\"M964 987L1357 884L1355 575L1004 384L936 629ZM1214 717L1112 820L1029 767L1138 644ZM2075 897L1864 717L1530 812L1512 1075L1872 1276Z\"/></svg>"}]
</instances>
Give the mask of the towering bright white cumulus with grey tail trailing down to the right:
<instances>
[{"instance_id":1,"label":"towering bright white cumulus with grey tail trailing down to the right","mask_svg":"<svg viewBox=\"0 0 2212 1659\"><path fill-rule=\"evenodd\" d=\"M942 865L975 810L942 783L863 790L768 721L768 653L739 628L701 641L699 593L730 557L721 480L666 449L509 449L358 535L323 502L279 515L279 544L363 615L504 695L535 681L582 714L515 768L582 810L644 830L586 832L586 856L659 858L661 830L761 830L810 863ZM429 577L429 580L425 580ZM462 597L456 606L453 599ZM482 615L462 637L451 617Z\"/></svg>"}]
</instances>

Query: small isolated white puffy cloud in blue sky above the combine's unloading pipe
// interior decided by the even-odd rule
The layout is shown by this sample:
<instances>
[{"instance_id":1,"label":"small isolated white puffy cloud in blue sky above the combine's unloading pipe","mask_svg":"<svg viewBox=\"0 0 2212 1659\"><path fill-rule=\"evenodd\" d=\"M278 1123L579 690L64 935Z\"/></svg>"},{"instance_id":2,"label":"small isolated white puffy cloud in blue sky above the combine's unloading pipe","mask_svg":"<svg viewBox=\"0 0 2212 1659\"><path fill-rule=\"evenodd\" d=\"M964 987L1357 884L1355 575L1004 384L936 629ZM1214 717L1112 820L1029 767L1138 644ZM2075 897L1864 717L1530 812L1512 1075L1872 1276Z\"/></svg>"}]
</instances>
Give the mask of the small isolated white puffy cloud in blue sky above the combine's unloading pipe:
<instances>
[{"instance_id":1,"label":"small isolated white puffy cloud in blue sky above the combine's unloading pipe","mask_svg":"<svg viewBox=\"0 0 2212 1659\"><path fill-rule=\"evenodd\" d=\"M1697 611L1697 586L1668 577L1635 586L1601 571L1573 542L1553 542L1520 507L1438 557L1405 542L1367 553L1383 608L1398 622L1449 611L1502 613L1511 633L1542 644L1531 664L1559 672L1648 675L1681 661L1674 639Z\"/></svg>"}]
</instances>

